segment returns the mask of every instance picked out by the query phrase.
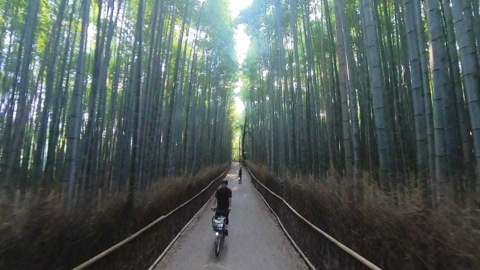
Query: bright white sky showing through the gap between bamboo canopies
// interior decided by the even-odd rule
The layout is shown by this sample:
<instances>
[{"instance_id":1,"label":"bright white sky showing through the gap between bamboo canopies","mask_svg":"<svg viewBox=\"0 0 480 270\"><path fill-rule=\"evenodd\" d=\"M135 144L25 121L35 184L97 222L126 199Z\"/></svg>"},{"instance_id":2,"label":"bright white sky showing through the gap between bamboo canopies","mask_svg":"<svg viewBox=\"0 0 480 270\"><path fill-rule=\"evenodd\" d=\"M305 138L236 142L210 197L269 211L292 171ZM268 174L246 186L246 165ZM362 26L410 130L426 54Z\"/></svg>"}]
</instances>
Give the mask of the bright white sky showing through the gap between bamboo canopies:
<instances>
[{"instance_id":1,"label":"bright white sky showing through the gap between bamboo canopies","mask_svg":"<svg viewBox=\"0 0 480 270\"><path fill-rule=\"evenodd\" d=\"M230 0L230 9L232 19L236 18L240 13L240 10L248 7L251 4L252 0ZM236 58L238 59L238 64L241 64L245 59L246 52L248 50L248 45L250 44L250 39L245 33L245 25L240 24L236 27L235 33L233 34L235 40L235 51ZM238 78L236 82L236 87L234 89L235 94L239 94L241 89L241 80ZM241 114L245 108L240 96L235 95L235 110L236 113Z\"/></svg>"}]
</instances>

